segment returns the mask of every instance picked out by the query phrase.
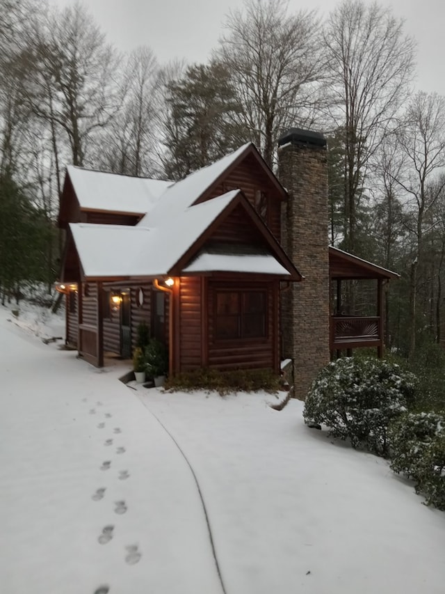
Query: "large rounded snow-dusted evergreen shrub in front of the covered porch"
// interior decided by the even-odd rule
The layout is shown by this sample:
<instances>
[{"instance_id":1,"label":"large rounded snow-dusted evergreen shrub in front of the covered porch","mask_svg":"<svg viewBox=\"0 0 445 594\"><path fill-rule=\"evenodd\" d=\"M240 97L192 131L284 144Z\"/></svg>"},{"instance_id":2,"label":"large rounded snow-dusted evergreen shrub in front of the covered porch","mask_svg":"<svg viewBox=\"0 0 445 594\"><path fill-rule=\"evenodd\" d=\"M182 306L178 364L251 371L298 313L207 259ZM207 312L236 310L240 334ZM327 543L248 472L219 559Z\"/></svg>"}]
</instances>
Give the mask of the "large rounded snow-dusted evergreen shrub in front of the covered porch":
<instances>
[{"instance_id":1,"label":"large rounded snow-dusted evergreen shrub in front of the covered porch","mask_svg":"<svg viewBox=\"0 0 445 594\"><path fill-rule=\"evenodd\" d=\"M414 400L415 377L380 359L343 357L314 380L305 402L306 423L320 423L330 435L350 438L353 447L387 454L389 422Z\"/></svg>"}]
</instances>

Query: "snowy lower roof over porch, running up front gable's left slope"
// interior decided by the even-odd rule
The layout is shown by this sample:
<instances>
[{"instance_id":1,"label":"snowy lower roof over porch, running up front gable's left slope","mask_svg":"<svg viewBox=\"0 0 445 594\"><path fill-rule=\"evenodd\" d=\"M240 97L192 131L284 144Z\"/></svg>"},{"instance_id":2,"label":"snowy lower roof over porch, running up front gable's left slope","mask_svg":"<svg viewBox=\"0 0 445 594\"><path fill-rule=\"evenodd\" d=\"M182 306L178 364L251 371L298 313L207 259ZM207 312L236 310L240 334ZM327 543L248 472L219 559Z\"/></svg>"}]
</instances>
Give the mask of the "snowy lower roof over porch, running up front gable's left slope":
<instances>
[{"instance_id":1,"label":"snowy lower roof over porch, running up front gable's left slope","mask_svg":"<svg viewBox=\"0 0 445 594\"><path fill-rule=\"evenodd\" d=\"M156 228L70 224L85 276L168 274L237 194L238 190L232 190L184 212L172 212L170 218Z\"/></svg>"}]
</instances>

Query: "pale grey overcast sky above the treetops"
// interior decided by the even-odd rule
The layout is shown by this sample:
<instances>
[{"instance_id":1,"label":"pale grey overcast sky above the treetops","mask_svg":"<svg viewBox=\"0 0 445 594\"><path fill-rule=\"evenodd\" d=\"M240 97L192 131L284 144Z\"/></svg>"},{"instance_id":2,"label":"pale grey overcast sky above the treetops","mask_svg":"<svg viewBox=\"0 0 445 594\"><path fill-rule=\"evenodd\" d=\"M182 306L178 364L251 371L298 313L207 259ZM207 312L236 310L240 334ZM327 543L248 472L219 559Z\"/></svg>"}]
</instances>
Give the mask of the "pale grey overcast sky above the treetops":
<instances>
[{"instance_id":1,"label":"pale grey overcast sky above the treetops","mask_svg":"<svg viewBox=\"0 0 445 594\"><path fill-rule=\"evenodd\" d=\"M49 0L67 6L75 0ZM290 0L289 7L318 8L322 15L337 0ZM445 1L380 0L406 21L406 31L418 42L417 88L445 95ZM225 15L243 0L88 0L84 4L108 40L128 52L148 45L160 63L186 58L204 62L223 31Z\"/></svg>"}]
</instances>

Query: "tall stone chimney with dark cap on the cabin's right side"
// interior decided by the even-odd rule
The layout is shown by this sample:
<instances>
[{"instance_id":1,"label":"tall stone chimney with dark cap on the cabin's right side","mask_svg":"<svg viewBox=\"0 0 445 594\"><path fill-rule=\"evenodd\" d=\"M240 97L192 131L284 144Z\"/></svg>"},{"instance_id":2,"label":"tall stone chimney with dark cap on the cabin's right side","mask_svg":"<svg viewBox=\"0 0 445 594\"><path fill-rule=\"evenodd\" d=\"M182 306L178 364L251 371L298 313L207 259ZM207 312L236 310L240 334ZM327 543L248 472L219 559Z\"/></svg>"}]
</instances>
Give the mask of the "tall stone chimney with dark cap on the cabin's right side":
<instances>
[{"instance_id":1,"label":"tall stone chimney with dark cap on the cabin's right side","mask_svg":"<svg viewBox=\"0 0 445 594\"><path fill-rule=\"evenodd\" d=\"M283 355L293 360L295 396L304 399L330 360L327 159L323 134L291 128L278 140L278 178L289 199L282 245L299 272L282 294Z\"/></svg>"}]
</instances>

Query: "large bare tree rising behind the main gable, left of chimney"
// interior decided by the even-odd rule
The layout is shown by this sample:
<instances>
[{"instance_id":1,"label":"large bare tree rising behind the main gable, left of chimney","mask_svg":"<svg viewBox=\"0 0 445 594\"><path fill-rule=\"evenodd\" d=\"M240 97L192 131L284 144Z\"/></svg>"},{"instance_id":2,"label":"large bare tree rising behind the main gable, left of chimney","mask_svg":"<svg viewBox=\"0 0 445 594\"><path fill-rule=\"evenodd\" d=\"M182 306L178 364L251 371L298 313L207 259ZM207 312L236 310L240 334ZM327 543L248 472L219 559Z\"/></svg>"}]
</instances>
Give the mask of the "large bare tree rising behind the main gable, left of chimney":
<instances>
[{"instance_id":1,"label":"large bare tree rising behind the main gable, left of chimney","mask_svg":"<svg viewBox=\"0 0 445 594\"><path fill-rule=\"evenodd\" d=\"M287 0L245 0L229 13L216 58L232 77L247 127L272 166L285 127L310 125L323 72L320 22L314 11L288 13ZM309 123L309 124L308 124Z\"/></svg>"}]
</instances>

